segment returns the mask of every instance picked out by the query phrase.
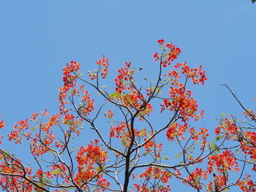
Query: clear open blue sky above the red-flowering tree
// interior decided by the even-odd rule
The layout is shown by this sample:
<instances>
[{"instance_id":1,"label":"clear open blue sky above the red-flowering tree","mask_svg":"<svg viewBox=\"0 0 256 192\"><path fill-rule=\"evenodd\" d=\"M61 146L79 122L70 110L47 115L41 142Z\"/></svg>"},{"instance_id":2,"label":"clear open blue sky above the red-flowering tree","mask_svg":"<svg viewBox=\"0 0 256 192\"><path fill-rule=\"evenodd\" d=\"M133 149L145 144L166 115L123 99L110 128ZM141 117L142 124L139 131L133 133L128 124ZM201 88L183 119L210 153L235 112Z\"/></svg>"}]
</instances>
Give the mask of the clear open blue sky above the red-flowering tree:
<instances>
[{"instance_id":1,"label":"clear open blue sky above the red-flowering tree","mask_svg":"<svg viewBox=\"0 0 256 192\"><path fill-rule=\"evenodd\" d=\"M165 39L181 47L181 61L206 70L208 82L194 93L213 130L222 112L241 114L219 84L255 109L255 18L249 0L1 1L0 115L12 128L33 112L57 112L61 69L71 60L86 72L105 54L113 69L132 61L153 75L157 39Z\"/></svg>"}]
</instances>

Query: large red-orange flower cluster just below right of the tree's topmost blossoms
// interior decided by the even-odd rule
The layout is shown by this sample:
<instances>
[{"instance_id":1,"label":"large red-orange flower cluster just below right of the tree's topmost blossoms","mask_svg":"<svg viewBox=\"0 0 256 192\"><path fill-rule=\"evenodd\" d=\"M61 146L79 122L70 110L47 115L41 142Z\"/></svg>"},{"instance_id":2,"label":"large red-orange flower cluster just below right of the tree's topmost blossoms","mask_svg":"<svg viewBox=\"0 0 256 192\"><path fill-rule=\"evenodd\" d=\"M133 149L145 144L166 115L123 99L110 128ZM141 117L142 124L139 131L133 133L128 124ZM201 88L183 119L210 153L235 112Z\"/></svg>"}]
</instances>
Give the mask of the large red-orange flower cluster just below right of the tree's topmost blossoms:
<instances>
[{"instance_id":1,"label":"large red-orange flower cluster just below right of the tree's topmost blossoms","mask_svg":"<svg viewBox=\"0 0 256 192\"><path fill-rule=\"evenodd\" d=\"M186 62L178 63L173 68L173 70L164 75L165 81L170 82L170 99L162 100L161 112L170 110L176 112L177 115L181 115L183 120L189 120L189 118L198 120L198 118L203 117L203 111L197 114L197 101L192 97L191 91L187 90L186 84L189 79L196 85L204 84L207 80L206 74L202 66L189 68ZM180 82L182 76L186 79L184 84Z\"/></svg>"}]
</instances>

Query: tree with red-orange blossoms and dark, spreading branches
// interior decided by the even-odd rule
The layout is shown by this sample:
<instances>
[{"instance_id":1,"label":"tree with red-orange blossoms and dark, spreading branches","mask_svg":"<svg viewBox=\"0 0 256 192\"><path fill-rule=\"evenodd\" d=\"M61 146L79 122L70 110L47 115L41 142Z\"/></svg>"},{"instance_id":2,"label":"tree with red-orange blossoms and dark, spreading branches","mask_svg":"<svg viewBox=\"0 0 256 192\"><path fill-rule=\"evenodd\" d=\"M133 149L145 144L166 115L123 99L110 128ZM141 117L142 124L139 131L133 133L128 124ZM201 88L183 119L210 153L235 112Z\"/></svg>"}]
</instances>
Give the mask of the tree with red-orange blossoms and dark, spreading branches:
<instances>
[{"instance_id":1,"label":"tree with red-orange blossoms and dark, spreading branches","mask_svg":"<svg viewBox=\"0 0 256 192\"><path fill-rule=\"evenodd\" d=\"M118 69L113 91L102 86L109 66L105 56L89 77L83 77L79 63L67 64L60 112L34 113L8 135L17 145L29 143L34 167L0 149L2 190L170 191L170 180L179 180L195 191L255 191L249 174L256 171L254 112L241 105L244 122L222 115L215 137L197 128L203 111L188 86L203 85L206 74L202 66L174 64L181 50L163 39L158 43L161 53L153 56L157 80L143 80L137 76L141 68L127 62ZM92 99L91 88L101 100ZM77 145L88 128L94 139Z\"/></svg>"}]
</instances>

